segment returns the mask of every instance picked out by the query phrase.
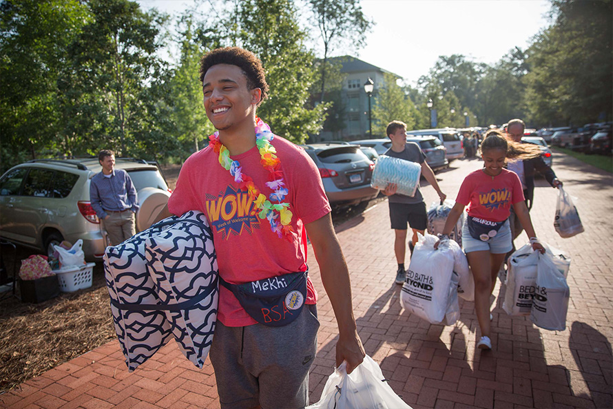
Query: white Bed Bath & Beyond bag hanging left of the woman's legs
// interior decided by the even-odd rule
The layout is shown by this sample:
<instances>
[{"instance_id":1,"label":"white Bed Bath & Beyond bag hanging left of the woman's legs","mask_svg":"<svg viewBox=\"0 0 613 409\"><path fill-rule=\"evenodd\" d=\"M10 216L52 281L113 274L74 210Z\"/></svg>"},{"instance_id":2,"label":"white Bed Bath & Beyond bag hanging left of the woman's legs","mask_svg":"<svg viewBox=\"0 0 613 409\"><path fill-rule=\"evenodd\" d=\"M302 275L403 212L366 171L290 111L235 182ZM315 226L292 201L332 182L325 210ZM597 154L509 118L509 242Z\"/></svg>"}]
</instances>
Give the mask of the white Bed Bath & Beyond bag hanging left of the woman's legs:
<instances>
[{"instance_id":1,"label":"white Bed Bath & Beyond bag hanging left of the woman's legs","mask_svg":"<svg viewBox=\"0 0 613 409\"><path fill-rule=\"evenodd\" d=\"M453 280L453 252L448 246L434 249L436 236L419 235L406 281L400 292L400 301L406 310L430 323L442 323L446 319L448 303L453 302L457 281ZM457 303L457 296L455 297ZM446 321L450 325L449 320ZM455 320L453 320L455 322Z\"/></svg>"}]
</instances>

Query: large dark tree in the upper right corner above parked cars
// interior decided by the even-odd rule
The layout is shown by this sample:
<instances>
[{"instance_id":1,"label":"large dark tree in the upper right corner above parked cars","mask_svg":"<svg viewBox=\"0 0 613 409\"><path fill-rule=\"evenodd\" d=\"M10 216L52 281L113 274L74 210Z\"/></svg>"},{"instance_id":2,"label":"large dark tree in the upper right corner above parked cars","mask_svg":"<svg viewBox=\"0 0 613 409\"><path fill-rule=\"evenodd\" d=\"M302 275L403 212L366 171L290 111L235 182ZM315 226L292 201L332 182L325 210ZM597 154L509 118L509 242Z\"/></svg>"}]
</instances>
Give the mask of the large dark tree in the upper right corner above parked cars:
<instances>
[{"instance_id":1,"label":"large dark tree in the upper right corner above parked cars","mask_svg":"<svg viewBox=\"0 0 613 409\"><path fill-rule=\"evenodd\" d=\"M530 116L547 125L612 119L613 1L552 0L551 15L527 51Z\"/></svg>"}]
</instances>

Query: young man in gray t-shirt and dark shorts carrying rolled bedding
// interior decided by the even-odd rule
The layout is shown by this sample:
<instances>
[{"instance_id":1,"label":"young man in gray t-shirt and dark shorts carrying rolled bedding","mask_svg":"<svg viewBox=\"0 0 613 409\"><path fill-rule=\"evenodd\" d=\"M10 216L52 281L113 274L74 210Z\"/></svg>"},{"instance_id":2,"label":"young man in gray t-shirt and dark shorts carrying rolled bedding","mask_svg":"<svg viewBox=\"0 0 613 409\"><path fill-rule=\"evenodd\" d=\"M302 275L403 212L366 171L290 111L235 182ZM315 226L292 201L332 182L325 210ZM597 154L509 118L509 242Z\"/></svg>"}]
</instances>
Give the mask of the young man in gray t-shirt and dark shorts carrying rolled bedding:
<instances>
[{"instance_id":1,"label":"young man in gray t-shirt and dark shorts carrying rolled bedding","mask_svg":"<svg viewBox=\"0 0 613 409\"><path fill-rule=\"evenodd\" d=\"M445 200L447 196L439 188L432 168L426 163L426 155L422 152L422 148L419 148L419 145L415 142L406 141L406 124L401 121L391 121L387 126L386 134L391 139L392 146L384 154L404 159L405 161L419 163L422 166L422 175L424 175L426 181L435 188L441 201ZM413 197L397 194L396 190L397 186L395 183L390 183L383 190L383 194L389 197L391 228L395 232L394 252L398 262L395 281L397 284L402 284L406 278L406 271L404 270L406 224L408 223L408 226L411 226L413 230L411 241L408 242L408 248L413 252L413 246L417 243L417 232L422 235L424 234L426 224L428 223L428 216L426 215L426 203L424 203L424 197L422 197L419 186L417 186L415 196Z\"/></svg>"}]
</instances>

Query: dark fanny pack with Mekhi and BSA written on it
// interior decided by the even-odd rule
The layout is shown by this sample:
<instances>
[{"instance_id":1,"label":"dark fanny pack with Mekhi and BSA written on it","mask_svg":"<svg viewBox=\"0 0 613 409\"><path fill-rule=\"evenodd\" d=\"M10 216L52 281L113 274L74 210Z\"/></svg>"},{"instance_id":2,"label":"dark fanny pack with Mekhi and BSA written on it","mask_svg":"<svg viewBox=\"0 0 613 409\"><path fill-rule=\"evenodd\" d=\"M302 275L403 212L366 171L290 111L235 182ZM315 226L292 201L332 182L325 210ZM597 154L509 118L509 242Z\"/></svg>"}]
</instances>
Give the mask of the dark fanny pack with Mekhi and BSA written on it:
<instances>
[{"instance_id":1,"label":"dark fanny pack with Mekhi and BSA written on it","mask_svg":"<svg viewBox=\"0 0 613 409\"><path fill-rule=\"evenodd\" d=\"M219 282L233 293L251 318L265 326L282 327L302 311L308 272L291 272L244 284L231 284L219 277Z\"/></svg>"}]
</instances>

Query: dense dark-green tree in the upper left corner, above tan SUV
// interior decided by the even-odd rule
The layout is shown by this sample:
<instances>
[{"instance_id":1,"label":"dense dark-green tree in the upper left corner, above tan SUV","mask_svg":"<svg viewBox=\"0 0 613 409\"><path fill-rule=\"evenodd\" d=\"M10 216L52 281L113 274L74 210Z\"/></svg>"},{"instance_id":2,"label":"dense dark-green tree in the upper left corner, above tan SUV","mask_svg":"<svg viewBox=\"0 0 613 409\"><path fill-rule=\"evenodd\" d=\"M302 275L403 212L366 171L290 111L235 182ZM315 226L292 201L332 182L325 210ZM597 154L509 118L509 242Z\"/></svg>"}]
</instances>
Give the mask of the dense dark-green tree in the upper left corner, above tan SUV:
<instances>
[{"instance_id":1,"label":"dense dark-green tree in the upper left corner, above tan SUV","mask_svg":"<svg viewBox=\"0 0 613 409\"><path fill-rule=\"evenodd\" d=\"M61 133L56 82L67 48L88 21L77 0L0 3L2 168L53 148Z\"/></svg>"}]
</instances>

